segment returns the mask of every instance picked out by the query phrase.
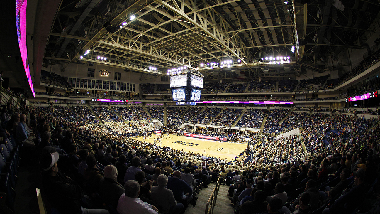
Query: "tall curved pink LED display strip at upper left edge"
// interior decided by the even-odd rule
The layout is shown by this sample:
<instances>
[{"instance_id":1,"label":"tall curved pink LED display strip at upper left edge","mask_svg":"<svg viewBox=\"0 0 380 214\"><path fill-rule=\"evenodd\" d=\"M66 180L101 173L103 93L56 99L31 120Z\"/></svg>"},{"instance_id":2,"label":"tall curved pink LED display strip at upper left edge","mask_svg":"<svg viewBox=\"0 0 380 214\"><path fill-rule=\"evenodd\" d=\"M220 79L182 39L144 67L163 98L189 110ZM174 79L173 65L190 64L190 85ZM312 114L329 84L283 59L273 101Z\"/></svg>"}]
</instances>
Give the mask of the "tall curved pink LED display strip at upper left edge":
<instances>
[{"instance_id":1,"label":"tall curved pink LED display strip at upper left edge","mask_svg":"<svg viewBox=\"0 0 380 214\"><path fill-rule=\"evenodd\" d=\"M19 42L22 64L26 77L28 79L30 90L32 90L33 97L36 97L34 92L32 78L30 77L28 50L26 45L26 6L28 0L16 0L16 28L17 39Z\"/></svg>"}]
</instances>

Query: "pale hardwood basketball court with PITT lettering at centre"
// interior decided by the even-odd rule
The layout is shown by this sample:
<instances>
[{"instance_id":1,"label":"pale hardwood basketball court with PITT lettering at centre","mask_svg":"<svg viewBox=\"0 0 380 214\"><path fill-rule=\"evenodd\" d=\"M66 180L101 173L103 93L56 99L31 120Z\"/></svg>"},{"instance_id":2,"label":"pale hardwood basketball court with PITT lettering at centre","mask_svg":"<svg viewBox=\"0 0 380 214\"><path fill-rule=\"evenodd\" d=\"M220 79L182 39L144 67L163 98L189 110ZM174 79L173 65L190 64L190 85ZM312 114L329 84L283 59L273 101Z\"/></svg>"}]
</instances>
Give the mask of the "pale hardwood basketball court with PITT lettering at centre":
<instances>
[{"instance_id":1,"label":"pale hardwood basketball court with PITT lettering at centre","mask_svg":"<svg viewBox=\"0 0 380 214\"><path fill-rule=\"evenodd\" d=\"M166 133L163 134L166 136ZM153 144L153 137L157 139L157 136L152 135L150 139L146 139L147 142ZM139 141L143 141L143 137L136 137ZM157 140L156 140L157 141ZM156 145L159 145L156 142ZM236 144L230 142L212 141L208 139L200 139L187 136L176 136L170 134L170 139L163 137L161 139L161 147L170 147L172 149L185 150L187 152L195 152L200 155L209 155L224 158L231 161L233 158L240 155L247 148L247 144Z\"/></svg>"}]
</instances>

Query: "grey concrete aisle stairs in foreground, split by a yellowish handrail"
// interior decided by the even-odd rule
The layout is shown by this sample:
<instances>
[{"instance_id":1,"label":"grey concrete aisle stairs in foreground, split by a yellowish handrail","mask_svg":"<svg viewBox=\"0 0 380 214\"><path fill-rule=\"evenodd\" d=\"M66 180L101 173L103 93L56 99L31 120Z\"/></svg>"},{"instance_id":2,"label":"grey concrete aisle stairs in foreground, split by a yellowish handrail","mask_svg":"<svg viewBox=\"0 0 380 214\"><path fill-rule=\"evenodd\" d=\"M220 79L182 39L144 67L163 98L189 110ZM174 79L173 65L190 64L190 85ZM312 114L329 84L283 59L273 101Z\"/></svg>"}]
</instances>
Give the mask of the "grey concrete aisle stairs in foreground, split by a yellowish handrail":
<instances>
[{"instance_id":1,"label":"grey concrete aisle stairs in foreground, split by a yellowish handrail","mask_svg":"<svg viewBox=\"0 0 380 214\"><path fill-rule=\"evenodd\" d=\"M203 188L199 194L196 195L198 196L198 200L196 201L195 207L190 205L186 209L185 214L205 213L207 201L209 200L215 186L216 184L211 182L208 188ZM228 186L220 184L217 200L215 201L214 213L234 213L234 208L227 196L228 188Z\"/></svg>"}]
</instances>

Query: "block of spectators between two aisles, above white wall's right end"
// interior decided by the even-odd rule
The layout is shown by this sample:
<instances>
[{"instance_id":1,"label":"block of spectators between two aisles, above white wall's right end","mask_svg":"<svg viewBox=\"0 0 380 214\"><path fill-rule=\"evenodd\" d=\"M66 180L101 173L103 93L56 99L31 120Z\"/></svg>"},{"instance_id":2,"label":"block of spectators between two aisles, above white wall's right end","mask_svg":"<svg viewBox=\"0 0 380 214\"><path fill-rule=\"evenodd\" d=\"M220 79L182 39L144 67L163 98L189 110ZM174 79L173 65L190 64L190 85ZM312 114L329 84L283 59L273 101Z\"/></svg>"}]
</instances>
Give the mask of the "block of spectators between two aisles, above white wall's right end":
<instances>
[{"instance_id":1,"label":"block of spectators between two aisles, above white wall's right end","mask_svg":"<svg viewBox=\"0 0 380 214\"><path fill-rule=\"evenodd\" d=\"M237 122L237 127L260 128L265 117L265 109L247 109Z\"/></svg>"}]
</instances>

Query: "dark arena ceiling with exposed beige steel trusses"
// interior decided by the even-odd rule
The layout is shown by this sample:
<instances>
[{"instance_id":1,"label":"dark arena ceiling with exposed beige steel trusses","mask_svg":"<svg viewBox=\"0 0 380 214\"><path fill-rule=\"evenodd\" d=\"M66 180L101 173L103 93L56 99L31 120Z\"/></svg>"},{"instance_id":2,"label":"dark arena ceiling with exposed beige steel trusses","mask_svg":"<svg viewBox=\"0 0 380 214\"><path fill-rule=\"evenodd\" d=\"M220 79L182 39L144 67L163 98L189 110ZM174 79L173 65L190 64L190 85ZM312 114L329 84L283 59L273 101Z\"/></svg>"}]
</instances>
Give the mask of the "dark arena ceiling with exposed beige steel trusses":
<instances>
[{"instance_id":1,"label":"dark arena ceiling with exposed beige steel trusses","mask_svg":"<svg viewBox=\"0 0 380 214\"><path fill-rule=\"evenodd\" d=\"M236 77L239 71L247 78L294 77L305 67L322 71L337 65L331 59L347 48L366 48L361 36L379 30L377 0L287 2L62 0L43 65L101 63L149 75L185 65L208 80ZM90 53L80 59L86 50ZM266 56L291 56L290 70L260 62ZM240 62L228 69L199 67L230 59Z\"/></svg>"}]
</instances>

